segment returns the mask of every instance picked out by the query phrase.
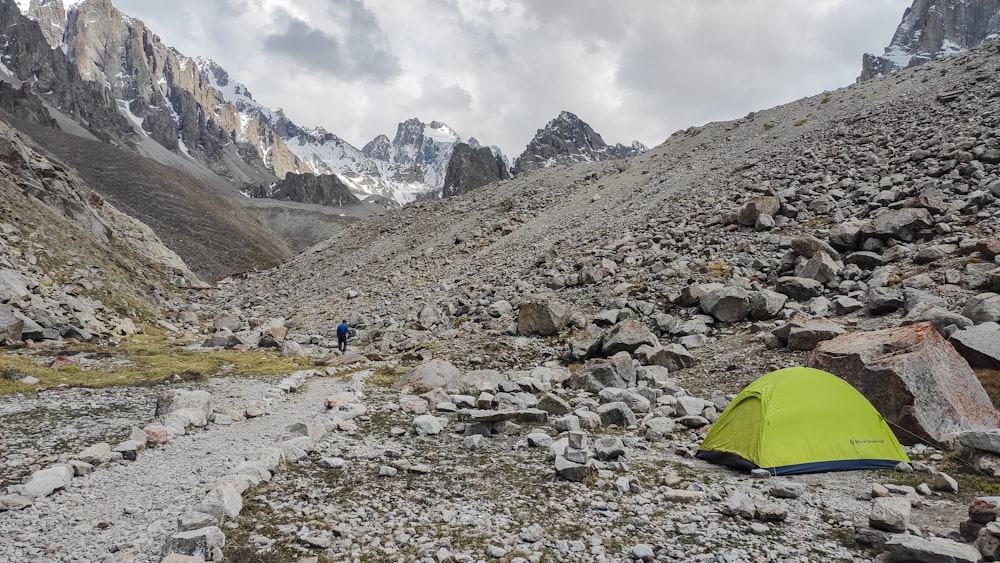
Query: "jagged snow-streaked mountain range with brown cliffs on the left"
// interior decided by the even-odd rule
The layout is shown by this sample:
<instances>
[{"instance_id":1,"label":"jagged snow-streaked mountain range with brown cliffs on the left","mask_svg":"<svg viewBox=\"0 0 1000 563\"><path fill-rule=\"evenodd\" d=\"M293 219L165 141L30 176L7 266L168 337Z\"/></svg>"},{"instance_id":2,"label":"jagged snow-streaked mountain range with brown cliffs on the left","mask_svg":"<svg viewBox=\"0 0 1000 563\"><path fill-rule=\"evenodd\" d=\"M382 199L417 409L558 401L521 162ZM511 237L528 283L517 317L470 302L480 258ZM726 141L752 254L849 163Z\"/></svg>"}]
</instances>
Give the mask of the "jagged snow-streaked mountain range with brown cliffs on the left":
<instances>
[{"instance_id":1,"label":"jagged snow-streaked mountain range with brown cliffs on the left","mask_svg":"<svg viewBox=\"0 0 1000 563\"><path fill-rule=\"evenodd\" d=\"M7 2L14 4L0 0ZM459 141L444 124L408 120L393 142L385 139L385 151L369 156L322 128L301 127L281 109L257 102L220 65L167 47L111 0L16 0L16 5L39 23L50 48L65 53L70 69L78 69L93 88L106 88L107 111L124 119L89 120L85 126L100 138L146 154L156 151L143 151L143 144L156 143L238 185L309 172L336 175L359 196L377 195L399 204L440 193ZM16 53L8 55L15 67L9 74L39 72L37 57L10 45L8 50ZM75 87L61 77L63 72L54 74L53 83L67 90L68 98ZM100 97L93 96L94 101ZM79 106L80 100L72 103Z\"/></svg>"}]
</instances>

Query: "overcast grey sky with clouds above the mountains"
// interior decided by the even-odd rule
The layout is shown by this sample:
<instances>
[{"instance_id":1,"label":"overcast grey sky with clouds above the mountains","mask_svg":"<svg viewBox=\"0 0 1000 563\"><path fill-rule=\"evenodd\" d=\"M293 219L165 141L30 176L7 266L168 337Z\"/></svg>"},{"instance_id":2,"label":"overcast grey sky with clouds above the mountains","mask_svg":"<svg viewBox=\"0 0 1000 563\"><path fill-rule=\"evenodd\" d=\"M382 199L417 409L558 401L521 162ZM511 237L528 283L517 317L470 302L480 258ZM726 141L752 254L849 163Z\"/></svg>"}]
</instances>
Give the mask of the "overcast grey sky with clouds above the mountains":
<instances>
[{"instance_id":1,"label":"overcast grey sky with clouds above the mountains","mask_svg":"<svg viewBox=\"0 0 1000 563\"><path fill-rule=\"evenodd\" d=\"M648 146L851 84L910 0L113 0L357 147L410 117L516 156L560 111Z\"/></svg>"}]
</instances>

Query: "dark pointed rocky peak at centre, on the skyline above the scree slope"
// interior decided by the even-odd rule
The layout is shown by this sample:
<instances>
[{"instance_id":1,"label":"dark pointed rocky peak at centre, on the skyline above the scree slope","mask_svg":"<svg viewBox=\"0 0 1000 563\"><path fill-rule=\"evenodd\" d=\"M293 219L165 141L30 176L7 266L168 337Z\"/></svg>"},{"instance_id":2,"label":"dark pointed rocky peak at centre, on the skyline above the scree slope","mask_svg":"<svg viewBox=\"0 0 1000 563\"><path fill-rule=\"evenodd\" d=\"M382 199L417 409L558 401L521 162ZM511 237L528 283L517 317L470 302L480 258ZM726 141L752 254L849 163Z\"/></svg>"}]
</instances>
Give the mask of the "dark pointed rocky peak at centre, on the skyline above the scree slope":
<instances>
[{"instance_id":1,"label":"dark pointed rocky peak at centre, on the skyline above the scree slope","mask_svg":"<svg viewBox=\"0 0 1000 563\"><path fill-rule=\"evenodd\" d=\"M621 143L609 145L590 125L576 115L564 111L535 133L535 138L517 157L514 174L546 168L555 164L621 160L638 156L646 146L633 141L626 147Z\"/></svg>"}]
</instances>

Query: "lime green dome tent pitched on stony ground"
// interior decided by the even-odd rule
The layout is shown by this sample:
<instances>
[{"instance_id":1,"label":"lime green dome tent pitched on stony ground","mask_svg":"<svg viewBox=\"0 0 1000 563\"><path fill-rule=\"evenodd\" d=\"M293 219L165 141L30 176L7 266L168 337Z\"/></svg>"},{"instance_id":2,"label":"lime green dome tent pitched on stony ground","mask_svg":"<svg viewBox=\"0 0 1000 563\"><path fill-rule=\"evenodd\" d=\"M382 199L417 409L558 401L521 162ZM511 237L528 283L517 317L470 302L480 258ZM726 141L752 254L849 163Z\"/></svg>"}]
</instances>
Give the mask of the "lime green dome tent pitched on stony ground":
<instances>
[{"instance_id":1,"label":"lime green dome tent pitched on stony ground","mask_svg":"<svg viewBox=\"0 0 1000 563\"><path fill-rule=\"evenodd\" d=\"M806 367L779 369L747 385L719 415L697 457L775 475L909 461L861 393L833 374Z\"/></svg>"}]
</instances>

